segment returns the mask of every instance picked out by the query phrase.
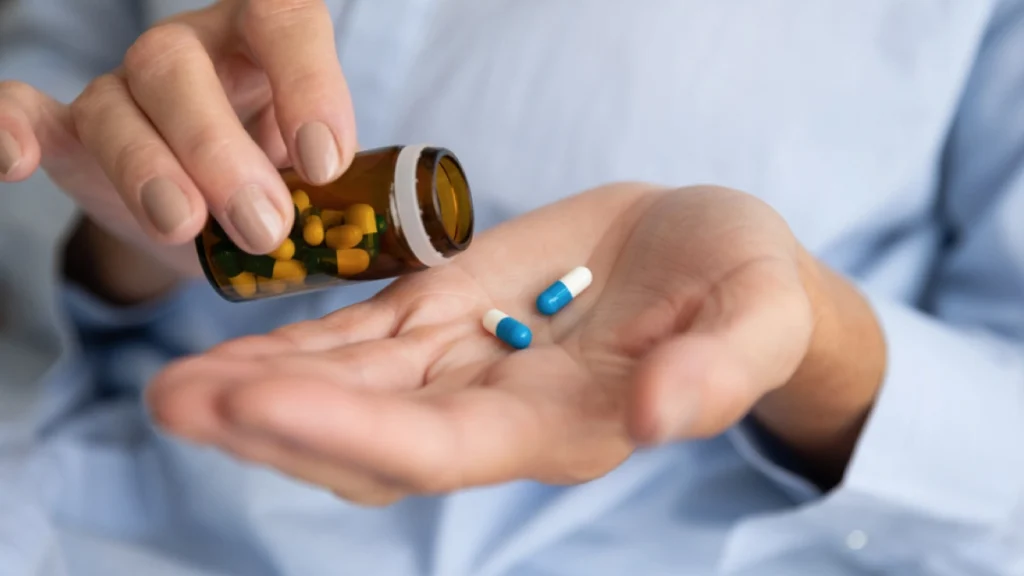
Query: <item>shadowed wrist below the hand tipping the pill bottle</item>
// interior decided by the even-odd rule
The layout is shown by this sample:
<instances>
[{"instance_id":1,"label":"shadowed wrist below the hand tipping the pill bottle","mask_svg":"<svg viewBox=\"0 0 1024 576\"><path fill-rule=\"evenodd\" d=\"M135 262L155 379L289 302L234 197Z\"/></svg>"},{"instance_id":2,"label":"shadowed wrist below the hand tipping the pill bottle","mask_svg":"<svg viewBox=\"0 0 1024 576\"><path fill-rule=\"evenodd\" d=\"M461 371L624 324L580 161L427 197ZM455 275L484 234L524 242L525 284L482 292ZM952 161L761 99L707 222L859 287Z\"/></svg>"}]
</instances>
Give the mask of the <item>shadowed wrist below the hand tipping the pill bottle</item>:
<instances>
[{"instance_id":1,"label":"shadowed wrist below the hand tipping the pill bottle","mask_svg":"<svg viewBox=\"0 0 1024 576\"><path fill-rule=\"evenodd\" d=\"M65 277L115 305L134 305L164 296L181 275L152 254L114 237L83 217L65 244Z\"/></svg>"}]
</instances>

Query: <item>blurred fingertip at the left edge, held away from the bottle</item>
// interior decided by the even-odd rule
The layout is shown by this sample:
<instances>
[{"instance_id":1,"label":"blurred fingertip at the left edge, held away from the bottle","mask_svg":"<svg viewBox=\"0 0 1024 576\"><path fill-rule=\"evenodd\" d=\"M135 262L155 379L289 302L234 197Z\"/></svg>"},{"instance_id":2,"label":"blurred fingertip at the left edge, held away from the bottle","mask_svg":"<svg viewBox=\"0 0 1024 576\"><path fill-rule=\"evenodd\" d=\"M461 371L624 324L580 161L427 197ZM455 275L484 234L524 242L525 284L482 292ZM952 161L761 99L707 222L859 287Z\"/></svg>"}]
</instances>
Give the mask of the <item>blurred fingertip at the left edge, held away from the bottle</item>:
<instances>
[{"instance_id":1,"label":"blurred fingertip at the left edge, held away from the bottle","mask_svg":"<svg viewBox=\"0 0 1024 576\"><path fill-rule=\"evenodd\" d=\"M0 181L22 181L43 162L44 149L76 145L67 107L20 82L0 82Z\"/></svg>"}]
</instances>

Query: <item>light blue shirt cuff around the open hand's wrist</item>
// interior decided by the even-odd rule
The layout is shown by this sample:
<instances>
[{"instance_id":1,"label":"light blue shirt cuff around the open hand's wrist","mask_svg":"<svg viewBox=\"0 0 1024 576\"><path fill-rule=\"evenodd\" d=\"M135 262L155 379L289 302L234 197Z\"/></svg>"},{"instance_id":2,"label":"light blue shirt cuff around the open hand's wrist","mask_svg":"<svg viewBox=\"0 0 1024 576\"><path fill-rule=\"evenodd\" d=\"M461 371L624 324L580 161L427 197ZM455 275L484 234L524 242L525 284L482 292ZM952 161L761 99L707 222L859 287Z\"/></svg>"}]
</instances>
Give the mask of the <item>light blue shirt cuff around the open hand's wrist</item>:
<instances>
[{"instance_id":1,"label":"light blue shirt cuff around the open hand's wrist","mask_svg":"<svg viewBox=\"0 0 1024 576\"><path fill-rule=\"evenodd\" d=\"M730 544L745 550L740 564L821 539L839 549L864 548L860 558L880 563L920 558L1005 526L1020 505L1019 347L865 295L886 336L888 366L840 486L821 494L755 427L730 430L739 453L803 504L741 525ZM795 531L802 536L782 538ZM872 540L872 533L888 537Z\"/></svg>"}]
</instances>

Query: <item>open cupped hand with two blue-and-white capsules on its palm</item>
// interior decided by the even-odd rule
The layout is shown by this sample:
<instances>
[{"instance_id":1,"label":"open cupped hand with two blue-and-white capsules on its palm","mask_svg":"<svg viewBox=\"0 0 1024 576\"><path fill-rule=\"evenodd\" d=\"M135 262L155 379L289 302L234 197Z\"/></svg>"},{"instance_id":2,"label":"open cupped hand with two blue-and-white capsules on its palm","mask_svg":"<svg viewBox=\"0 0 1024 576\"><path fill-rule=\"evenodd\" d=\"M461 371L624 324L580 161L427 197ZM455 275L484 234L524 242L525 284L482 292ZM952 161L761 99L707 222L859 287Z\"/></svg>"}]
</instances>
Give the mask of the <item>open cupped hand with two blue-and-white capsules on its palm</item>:
<instances>
[{"instance_id":1,"label":"open cupped hand with two blue-and-white capsules on its palm","mask_svg":"<svg viewBox=\"0 0 1024 576\"><path fill-rule=\"evenodd\" d=\"M813 314L782 219L731 190L590 191L440 269L160 374L171 434L367 504L516 479L584 482L636 446L716 435L787 381ZM537 296L593 284L553 317ZM527 324L513 351L497 307Z\"/></svg>"}]
</instances>

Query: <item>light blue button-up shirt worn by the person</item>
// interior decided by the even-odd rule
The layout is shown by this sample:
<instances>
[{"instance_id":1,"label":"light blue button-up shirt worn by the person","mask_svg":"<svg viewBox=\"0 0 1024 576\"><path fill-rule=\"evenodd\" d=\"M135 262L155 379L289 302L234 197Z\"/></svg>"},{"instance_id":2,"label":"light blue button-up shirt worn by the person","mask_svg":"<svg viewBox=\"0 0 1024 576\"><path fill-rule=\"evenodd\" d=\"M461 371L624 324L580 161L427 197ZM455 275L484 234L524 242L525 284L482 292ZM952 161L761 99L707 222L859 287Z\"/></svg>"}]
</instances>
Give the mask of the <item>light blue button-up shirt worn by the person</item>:
<instances>
[{"instance_id":1,"label":"light blue button-up shirt worn by the person","mask_svg":"<svg viewBox=\"0 0 1024 576\"><path fill-rule=\"evenodd\" d=\"M15 1L0 78L70 99L193 4ZM889 367L843 484L740 425L580 486L368 509L180 443L140 403L162 365L380 286L112 310L59 283L59 234L26 222L72 212L36 179L0 193L8 329L48 351L4 348L36 392L0 428L0 574L1024 574L1024 2L328 4L360 143L453 149L484 227L614 180L714 182L856 282Z\"/></svg>"}]
</instances>

